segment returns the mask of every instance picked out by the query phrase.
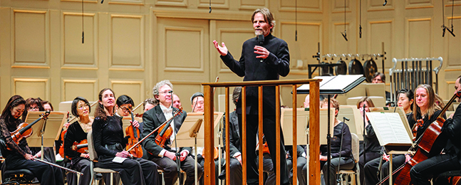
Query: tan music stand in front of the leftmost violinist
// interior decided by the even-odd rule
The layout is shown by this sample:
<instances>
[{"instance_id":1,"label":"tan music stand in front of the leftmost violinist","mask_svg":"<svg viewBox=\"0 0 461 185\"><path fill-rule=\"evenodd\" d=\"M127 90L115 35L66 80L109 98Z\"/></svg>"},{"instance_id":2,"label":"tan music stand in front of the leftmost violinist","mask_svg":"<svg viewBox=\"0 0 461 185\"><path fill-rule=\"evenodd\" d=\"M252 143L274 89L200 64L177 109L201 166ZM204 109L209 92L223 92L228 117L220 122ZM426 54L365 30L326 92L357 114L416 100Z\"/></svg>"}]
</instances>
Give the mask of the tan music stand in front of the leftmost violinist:
<instances>
[{"instance_id":1,"label":"tan music stand in front of the leftmost violinist","mask_svg":"<svg viewBox=\"0 0 461 185\"><path fill-rule=\"evenodd\" d=\"M25 122L37 120L45 111L27 112ZM32 125L33 133L27 138L29 147L41 147L43 160L43 147L53 147L54 141L59 138L61 128L66 123L67 112L51 111L47 120L40 120Z\"/></svg>"}]
</instances>

